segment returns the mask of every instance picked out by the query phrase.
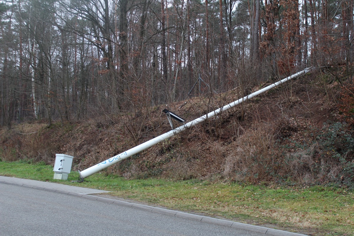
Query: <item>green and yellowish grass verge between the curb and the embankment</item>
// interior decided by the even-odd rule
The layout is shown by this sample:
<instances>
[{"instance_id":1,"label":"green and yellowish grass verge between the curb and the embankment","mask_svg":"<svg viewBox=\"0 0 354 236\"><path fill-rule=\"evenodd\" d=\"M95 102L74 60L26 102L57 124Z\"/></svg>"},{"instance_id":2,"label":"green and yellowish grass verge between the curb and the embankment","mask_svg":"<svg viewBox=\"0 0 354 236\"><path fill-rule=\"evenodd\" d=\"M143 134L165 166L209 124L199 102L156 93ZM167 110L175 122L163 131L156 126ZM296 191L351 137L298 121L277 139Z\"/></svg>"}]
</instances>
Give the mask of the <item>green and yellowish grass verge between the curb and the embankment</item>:
<instances>
[{"instance_id":1,"label":"green and yellowish grass verge between the curb and the embankment","mask_svg":"<svg viewBox=\"0 0 354 236\"><path fill-rule=\"evenodd\" d=\"M150 205L212 215L308 235L354 235L354 193L341 188L240 185L197 179L126 180L94 174L83 183L53 179L53 167L31 161L0 161L0 175L111 191ZM68 180L76 180L77 172Z\"/></svg>"}]
</instances>

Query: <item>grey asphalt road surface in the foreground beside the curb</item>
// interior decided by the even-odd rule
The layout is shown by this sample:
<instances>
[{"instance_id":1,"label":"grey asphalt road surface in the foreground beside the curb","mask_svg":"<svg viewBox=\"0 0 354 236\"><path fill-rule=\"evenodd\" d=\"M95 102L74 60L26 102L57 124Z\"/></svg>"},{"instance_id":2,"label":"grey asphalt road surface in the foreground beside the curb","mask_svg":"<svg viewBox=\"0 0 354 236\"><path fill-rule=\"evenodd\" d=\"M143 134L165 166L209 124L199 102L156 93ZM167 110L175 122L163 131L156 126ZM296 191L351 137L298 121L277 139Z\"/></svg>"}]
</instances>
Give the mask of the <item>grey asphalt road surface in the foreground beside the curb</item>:
<instances>
[{"instance_id":1,"label":"grey asphalt road surface in the foreground beside the curb","mask_svg":"<svg viewBox=\"0 0 354 236\"><path fill-rule=\"evenodd\" d=\"M261 236L227 226L0 183L1 236Z\"/></svg>"}]
</instances>

